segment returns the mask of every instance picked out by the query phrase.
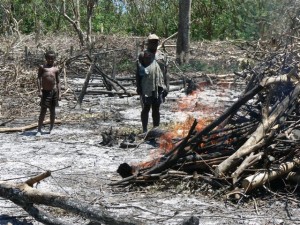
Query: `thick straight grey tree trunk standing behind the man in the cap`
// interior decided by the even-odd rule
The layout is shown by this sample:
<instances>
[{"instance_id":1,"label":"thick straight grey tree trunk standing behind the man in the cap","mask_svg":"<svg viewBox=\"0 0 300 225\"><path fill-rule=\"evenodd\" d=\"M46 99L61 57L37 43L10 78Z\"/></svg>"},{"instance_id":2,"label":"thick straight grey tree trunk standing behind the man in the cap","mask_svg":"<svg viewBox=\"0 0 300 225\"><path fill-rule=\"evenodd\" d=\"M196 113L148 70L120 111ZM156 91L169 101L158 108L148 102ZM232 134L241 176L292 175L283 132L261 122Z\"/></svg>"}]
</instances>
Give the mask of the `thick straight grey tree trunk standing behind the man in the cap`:
<instances>
[{"instance_id":1,"label":"thick straight grey tree trunk standing behind the man in the cap","mask_svg":"<svg viewBox=\"0 0 300 225\"><path fill-rule=\"evenodd\" d=\"M192 0L179 0L179 24L176 60L179 64L189 62L190 20Z\"/></svg>"}]
</instances>

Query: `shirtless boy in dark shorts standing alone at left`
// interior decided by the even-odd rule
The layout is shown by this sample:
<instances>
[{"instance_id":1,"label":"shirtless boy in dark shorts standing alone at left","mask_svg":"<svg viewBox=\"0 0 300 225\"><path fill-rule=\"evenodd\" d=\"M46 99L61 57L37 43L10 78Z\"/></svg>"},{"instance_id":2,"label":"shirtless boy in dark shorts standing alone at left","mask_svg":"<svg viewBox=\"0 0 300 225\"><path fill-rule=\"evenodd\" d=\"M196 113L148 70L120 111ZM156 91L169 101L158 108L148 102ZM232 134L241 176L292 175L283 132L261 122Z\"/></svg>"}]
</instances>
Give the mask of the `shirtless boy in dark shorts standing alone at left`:
<instances>
[{"instance_id":1,"label":"shirtless boy in dark shorts standing alone at left","mask_svg":"<svg viewBox=\"0 0 300 225\"><path fill-rule=\"evenodd\" d=\"M41 136L43 121L47 112L50 111L50 133L55 121L55 107L61 100L61 88L59 81L59 69L54 66L55 52L47 51L45 54L46 64L41 65L38 70L38 93L41 97L41 111L38 121L36 136Z\"/></svg>"}]
</instances>

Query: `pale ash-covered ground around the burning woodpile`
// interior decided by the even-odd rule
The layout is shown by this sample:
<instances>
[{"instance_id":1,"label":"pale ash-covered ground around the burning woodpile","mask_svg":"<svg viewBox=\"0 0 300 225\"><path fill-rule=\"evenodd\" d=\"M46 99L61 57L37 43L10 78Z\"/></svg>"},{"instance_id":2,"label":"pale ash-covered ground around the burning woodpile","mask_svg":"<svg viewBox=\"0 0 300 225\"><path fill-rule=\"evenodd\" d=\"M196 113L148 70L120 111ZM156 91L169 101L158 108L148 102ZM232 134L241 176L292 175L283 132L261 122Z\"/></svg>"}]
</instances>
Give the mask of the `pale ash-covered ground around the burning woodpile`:
<instances>
[{"instance_id":1,"label":"pale ash-covered ground around the burning woodpile","mask_svg":"<svg viewBox=\"0 0 300 225\"><path fill-rule=\"evenodd\" d=\"M216 118L238 96L235 88L216 85L208 85L193 96L186 96L183 90L171 92L161 107L162 129L184 122L188 116ZM86 96L81 109L74 105L70 98L63 98L57 109L57 119L62 123L51 134L47 132L48 126L41 137L35 136L35 129L0 133L1 181L23 182L50 170L51 177L35 188L84 200L94 207L105 206L112 215L128 215L149 225L177 225L191 216L198 217L200 224L300 224L299 205L275 196L239 204L213 198L209 193L212 190L191 190L185 181L172 187L166 185L164 189L155 184L141 188L110 186L121 179L116 172L121 163L147 161L158 148L153 142L138 138L135 148L120 148L122 138L112 147L101 144L103 132L112 130L125 138L141 131L139 97ZM27 118L26 123L37 120L38 109L37 105L33 109L35 116ZM150 127L151 122L150 119ZM7 124L19 125L26 125L22 118ZM88 222L61 209L41 207L71 224ZM41 223L2 198L0 224Z\"/></svg>"}]
</instances>

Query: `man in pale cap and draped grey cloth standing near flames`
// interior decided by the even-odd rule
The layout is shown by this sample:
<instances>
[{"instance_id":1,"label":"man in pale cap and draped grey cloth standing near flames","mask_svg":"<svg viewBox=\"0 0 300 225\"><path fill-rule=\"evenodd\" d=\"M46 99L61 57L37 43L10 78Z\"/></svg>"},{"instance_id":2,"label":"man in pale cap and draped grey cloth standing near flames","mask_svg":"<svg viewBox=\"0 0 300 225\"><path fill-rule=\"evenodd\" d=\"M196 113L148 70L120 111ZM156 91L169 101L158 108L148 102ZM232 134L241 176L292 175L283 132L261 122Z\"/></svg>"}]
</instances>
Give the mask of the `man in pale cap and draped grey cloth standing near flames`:
<instances>
[{"instance_id":1,"label":"man in pale cap and draped grey cloth standing near flames","mask_svg":"<svg viewBox=\"0 0 300 225\"><path fill-rule=\"evenodd\" d=\"M160 104L165 101L169 91L166 57L157 50L159 37L150 34L147 38L147 49L139 54L136 85L141 95L141 120L143 132L147 132L150 108L152 108L153 127L160 123Z\"/></svg>"}]
</instances>

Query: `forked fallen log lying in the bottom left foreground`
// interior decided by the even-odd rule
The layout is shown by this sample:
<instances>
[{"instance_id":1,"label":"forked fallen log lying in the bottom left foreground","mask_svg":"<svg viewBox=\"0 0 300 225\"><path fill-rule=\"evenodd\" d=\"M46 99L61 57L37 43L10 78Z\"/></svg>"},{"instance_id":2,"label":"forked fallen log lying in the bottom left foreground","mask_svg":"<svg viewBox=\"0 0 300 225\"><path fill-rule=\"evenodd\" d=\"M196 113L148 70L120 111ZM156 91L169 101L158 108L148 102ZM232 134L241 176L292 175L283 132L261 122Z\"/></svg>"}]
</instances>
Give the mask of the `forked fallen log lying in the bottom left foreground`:
<instances>
[{"instance_id":1,"label":"forked fallen log lying in the bottom left foreground","mask_svg":"<svg viewBox=\"0 0 300 225\"><path fill-rule=\"evenodd\" d=\"M24 183L0 182L0 196L11 200L18 206L22 207L37 221L47 225L65 225L68 223L57 219L54 215L46 213L41 208L35 206L35 204L58 207L101 224L141 224L133 218L110 215L103 206L98 205L97 207L94 207L72 197L52 192L45 192L31 187L34 183L39 182L50 175L51 173L47 171L46 173L31 178Z\"/></svg>"}]
</instances>

